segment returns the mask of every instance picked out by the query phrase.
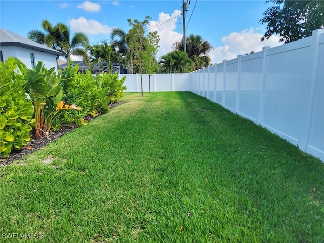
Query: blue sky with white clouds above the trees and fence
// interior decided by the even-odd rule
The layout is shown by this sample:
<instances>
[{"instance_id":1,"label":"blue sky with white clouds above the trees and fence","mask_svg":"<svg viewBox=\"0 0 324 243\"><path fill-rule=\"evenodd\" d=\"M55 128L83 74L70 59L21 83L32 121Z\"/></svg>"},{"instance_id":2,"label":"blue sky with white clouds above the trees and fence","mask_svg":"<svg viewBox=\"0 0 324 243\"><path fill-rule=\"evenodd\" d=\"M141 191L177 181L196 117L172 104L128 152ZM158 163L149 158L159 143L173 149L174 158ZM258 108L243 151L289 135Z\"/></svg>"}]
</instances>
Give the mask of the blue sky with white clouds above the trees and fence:
<instances>
[{"instance_id":1,"label":"blue sky with white clouds above the trees and fence","mask_svg":"<svg viewBox=\"0 0 324 243\"><path fill-rule=\"evenodd\" d=\"M110 42L113 27L128 31L127 19L141 21L150 16L150 27L160 36L159 58L172 51L172 44L183 36L181 6L182 0L0 0L0 26L27 37L30 30L42 30L41 22L47 19L53 25L65 23L72 33L85 32L91 44L100 44L102 40ZM261 51L263 46L281 45L278 36L260 42L266 26L259 20L269 6L265 0L191 0L186 35L200 35L209 41L214 47L209 53L212 63Z\"/></svg>"}]
</instances>

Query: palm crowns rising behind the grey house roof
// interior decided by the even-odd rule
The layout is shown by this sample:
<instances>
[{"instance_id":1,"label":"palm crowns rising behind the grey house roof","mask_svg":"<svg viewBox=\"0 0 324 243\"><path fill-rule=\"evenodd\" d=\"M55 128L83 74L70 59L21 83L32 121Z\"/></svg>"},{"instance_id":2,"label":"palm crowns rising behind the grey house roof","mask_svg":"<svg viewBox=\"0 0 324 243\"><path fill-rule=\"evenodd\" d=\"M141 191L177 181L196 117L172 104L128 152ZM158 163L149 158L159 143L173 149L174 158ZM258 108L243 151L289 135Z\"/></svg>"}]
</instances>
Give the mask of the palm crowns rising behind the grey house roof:
<instances>
[{"instance_id":1,"label":"palm crowns rising behind the grey house roof","mask_svg":"<svg viewBox=\"0 0 324 243\"><path fill-rule=\"evenodd\" d=\"M42 28L45 32L40 30L29 31L28 38L64 53L67 65L70 63L71 55L80 56L85 63L89 63L86 50L89 39L85 33L76 32L70 38L70 30L65 24L59 22L53 26L48 20L42 21Z\"/></svg>"}]
</instances>

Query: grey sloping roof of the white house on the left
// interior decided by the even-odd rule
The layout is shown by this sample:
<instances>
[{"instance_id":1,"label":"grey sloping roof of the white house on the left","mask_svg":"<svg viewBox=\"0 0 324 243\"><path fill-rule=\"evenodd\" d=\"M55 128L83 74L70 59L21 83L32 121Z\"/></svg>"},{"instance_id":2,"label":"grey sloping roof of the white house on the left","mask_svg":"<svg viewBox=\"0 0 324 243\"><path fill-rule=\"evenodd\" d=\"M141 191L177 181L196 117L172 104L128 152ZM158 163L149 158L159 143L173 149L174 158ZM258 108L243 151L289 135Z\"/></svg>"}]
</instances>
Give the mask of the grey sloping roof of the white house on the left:
<instances>
[{"instance_id":1,"label":"grey sloping roof of the white house on the left","mask_svg":"<svg viewBox=\"0 0 324 243\"><path fill-rule=\"evenodd\" d=\"M62 52L56 51L45 45L34 42L31 39L25 38L4 28L0 28L0 46L17 46L59 56L64 55Z\"/></svg>"}]
</instances>

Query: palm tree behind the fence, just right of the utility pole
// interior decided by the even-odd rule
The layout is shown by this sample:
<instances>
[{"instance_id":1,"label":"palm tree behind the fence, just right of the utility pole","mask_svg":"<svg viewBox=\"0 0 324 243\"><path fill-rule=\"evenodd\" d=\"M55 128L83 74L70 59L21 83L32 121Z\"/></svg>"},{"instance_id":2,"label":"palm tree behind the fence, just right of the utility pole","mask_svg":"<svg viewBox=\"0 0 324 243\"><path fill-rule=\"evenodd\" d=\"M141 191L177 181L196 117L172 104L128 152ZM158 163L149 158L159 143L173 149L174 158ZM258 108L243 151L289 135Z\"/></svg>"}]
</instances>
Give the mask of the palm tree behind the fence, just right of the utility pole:
<instances>
[{"instance_id":1,"label":"palm tree behind the fence, just right of the utility pole","mask_svg":"<svg viewBox=\"0 0 324 243\"><path fill-rule=\"evenodd\" d=\"M208 67L211 59L208 56L208 52L213 49L212 45L208 41L203 41L200 35L191 34L186 38L186 48L189 58L193 61L195 69ZM177 49L183 51L183 41L177 44Z\"/></svg>"}]
</instances>

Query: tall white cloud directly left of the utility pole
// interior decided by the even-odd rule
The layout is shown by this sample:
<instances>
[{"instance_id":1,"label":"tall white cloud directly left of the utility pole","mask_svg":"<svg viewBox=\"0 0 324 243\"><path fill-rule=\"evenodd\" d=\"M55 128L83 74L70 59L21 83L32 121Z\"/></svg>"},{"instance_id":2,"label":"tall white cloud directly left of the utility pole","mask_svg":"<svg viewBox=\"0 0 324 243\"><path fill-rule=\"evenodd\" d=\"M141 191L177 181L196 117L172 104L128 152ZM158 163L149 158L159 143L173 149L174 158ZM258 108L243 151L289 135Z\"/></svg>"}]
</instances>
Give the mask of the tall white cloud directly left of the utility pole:
<instances>
[{"instance_id":1,"label":"tall white cloud directly left of the utility pole","mask_svg":"<svg viewBox=\"0 0 324 243\"><path fill-rule=\"evenodd\" d=\"M181 17L181 11L175 10L171 16L165 13L159 13L158 19L149 22L150 31L157 31L160 37L159 50L157 52L157 59L162 55L172 51L174 42L181 41L182 34L175 31L177 28L178 18Z\"/></svg>"}]
</instances>

